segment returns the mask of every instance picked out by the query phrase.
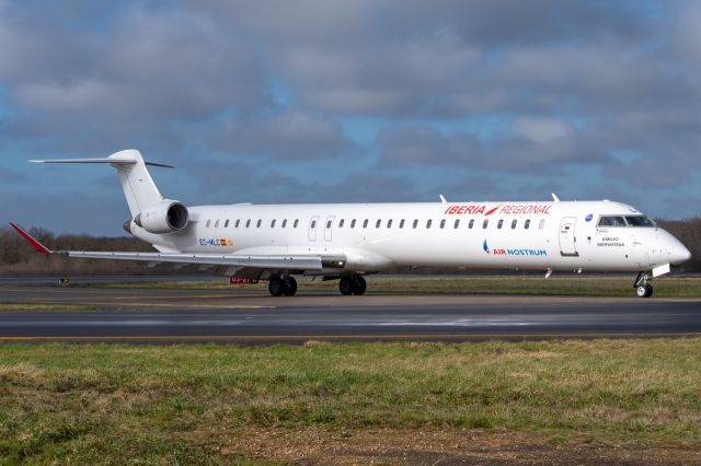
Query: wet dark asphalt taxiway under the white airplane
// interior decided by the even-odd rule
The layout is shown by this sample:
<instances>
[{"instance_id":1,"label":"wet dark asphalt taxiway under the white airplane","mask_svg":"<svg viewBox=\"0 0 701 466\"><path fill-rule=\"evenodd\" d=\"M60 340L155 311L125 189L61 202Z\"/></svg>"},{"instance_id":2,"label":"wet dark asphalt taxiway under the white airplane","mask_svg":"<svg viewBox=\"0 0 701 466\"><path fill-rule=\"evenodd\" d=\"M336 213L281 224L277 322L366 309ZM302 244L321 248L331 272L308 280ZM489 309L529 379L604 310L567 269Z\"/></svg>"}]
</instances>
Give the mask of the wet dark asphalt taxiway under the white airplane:
<instances>
[{"instance_id":1,"label":"wet dark asphalt taxiway under the white airplane","mask_svg":"<svg viewBox=\"0 0 701 466\"><path fill-rule=\"evenodd\" d=\"M272 298L263 292L4 284L0 302L32 307L0 312L4 342L701 336L701 300L691 299L335 293ZM53 311L57 305L62 310Z\"/></svg>"}]
</instances>

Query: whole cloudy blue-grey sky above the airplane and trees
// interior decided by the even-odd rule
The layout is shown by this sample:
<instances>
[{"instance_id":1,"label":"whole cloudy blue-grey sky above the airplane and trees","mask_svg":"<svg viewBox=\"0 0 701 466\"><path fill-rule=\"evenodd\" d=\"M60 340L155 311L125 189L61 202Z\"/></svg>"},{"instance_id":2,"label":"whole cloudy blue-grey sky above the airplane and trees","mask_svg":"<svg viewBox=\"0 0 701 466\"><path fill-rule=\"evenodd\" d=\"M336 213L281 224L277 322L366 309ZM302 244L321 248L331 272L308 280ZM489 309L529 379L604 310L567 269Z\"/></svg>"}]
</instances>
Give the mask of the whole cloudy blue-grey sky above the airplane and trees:
<instances>
[{"instance_id":1,"label":"whole cloudy blue-grey sky above the airplane and trees","mask_svg":"<svg viewBox=\"0 0 701 466\"><path fill-rule=\"evenodd\" d=\"M0 221L186 205L616 199L701 213L701 2L0 0Z\"/></svg>"}]
</instances>

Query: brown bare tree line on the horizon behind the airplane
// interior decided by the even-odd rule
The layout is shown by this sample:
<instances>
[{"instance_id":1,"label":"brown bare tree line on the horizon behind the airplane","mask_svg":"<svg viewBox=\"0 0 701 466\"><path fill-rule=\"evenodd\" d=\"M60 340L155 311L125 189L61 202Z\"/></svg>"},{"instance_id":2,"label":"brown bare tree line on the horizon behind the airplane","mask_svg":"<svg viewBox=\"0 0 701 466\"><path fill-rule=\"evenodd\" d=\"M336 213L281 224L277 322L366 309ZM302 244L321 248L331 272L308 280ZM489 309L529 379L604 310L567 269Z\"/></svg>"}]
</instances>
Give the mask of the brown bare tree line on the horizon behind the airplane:
<instances>
[{"instance_id":1,"label":"brown bare tree line on the horizon behind the airplane","mask_svg":"<svg viewBox=\"0 0 701 466\"><path fill-rule=\"evenodd\" d=\"M701 271L701 217L687 220L658 220L659 226L678 237L691 251L691 260L677 267L681 271ZM152 252L150 245L134 237L56 235L33 228L30 234L49 249ZM192 268L183 269L187 272ZM432 271L439 271L430 269ZM399 271L399 270L398 270ZM455 271L455 270L453 270ZM0 228L0 275L164 275L177 273L172 265L147 267L130 260L69 260L61 255L36 254L32 246L9 226ZM414 271L414 273L417 271Z\"/></svg>"}]
</instances>

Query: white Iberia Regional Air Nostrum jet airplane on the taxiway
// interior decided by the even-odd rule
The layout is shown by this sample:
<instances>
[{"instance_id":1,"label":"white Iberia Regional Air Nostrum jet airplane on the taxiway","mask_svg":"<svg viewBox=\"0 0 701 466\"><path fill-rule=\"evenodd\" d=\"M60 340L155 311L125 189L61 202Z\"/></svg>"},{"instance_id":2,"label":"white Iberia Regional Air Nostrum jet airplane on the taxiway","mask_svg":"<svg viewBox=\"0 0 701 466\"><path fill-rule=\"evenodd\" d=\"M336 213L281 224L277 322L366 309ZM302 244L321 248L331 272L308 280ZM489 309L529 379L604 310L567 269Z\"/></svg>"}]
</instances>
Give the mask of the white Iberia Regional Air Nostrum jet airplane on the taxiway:
<instances>
[{"instance_id":1,"label":"white Iberia Regional Air Nostrum jet airplane on the taxiway","mask_svg":"<svg viewBox=\"0 0 701 466\"><path fill-rule=\"evenodd\" d=\"M635 294L691 253L635 208L609 200L532 202L310 203L186 207L164 198L137 150L105 159L34 163L108 164L131 218L124 229L156 253L50 251L11 225L39 253L76 258L196 264L232 283L268 282L274 296L297 292L295 276L337 279L341 294L364 294L364 276L397 266L637 272Z\"/></svg>"}]
</instances>

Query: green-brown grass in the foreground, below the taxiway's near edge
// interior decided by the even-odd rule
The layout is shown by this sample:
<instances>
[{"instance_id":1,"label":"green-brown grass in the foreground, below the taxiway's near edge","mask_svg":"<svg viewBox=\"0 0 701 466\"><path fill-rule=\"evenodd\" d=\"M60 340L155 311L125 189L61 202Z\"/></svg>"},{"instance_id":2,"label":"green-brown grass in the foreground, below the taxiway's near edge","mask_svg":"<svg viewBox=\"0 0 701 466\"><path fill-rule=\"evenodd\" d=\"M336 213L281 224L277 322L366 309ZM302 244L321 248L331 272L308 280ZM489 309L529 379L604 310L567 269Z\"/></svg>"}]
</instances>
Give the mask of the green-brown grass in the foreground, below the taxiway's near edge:
<instances>
[{"instance_id":1,"label":"green-brown grass in the foreground, below the taxiway's near edge","mask_svg":"<svg viewBox=\"0 0 701 466\"><path fill-rule=\"evenodd\" d=\"M701 447L701 339L0 347L0 463L245 463L241 429Z\"/></svg>"}]
</instances>

